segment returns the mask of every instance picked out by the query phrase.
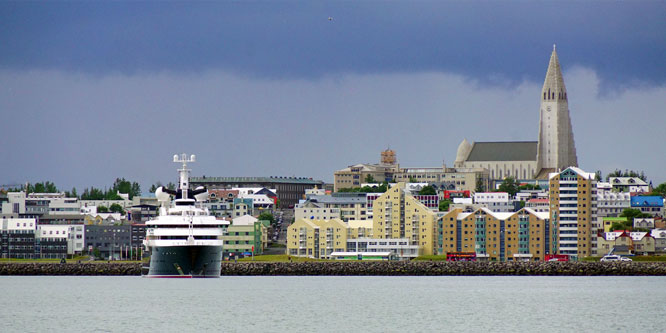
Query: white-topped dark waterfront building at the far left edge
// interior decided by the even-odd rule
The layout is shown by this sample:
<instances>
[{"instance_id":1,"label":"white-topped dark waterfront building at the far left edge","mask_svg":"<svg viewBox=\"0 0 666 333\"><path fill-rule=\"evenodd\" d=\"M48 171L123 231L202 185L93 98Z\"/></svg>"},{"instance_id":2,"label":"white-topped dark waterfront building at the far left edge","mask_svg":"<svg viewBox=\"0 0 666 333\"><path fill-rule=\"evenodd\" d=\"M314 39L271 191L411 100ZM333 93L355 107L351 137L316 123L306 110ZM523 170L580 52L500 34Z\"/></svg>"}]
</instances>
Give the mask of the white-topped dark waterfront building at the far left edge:
<instances>
[{"instance_id":1,"label":"white-topped dark waterfront building at the far left edge","mask_svg":"<svg viewBox=\"0 0 666 333\"><path fill-rule=\"evenodd\" d=\"M35 258L34 218L3 218L0 227L0 255L2 258Z\"/></svg>"}]
</instances>

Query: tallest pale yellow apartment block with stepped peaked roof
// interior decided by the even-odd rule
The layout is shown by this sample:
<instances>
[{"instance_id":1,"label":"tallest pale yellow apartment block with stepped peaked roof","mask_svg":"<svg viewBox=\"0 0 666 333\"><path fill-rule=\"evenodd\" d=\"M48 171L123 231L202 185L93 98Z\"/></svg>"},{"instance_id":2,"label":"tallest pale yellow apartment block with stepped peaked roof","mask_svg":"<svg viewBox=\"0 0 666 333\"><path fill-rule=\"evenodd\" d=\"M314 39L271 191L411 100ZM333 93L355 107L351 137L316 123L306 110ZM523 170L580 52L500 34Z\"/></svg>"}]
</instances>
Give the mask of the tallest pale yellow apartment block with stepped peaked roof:
<instances>
[{"instance_id":1,"label":"tallest pale yellow apartment block with stepped peaked roof","mask_svg":"<svg viewBox=\"0 0 666 333\"><path fill-rule=\"evenodd\" d=\"M437 213L404 191L398 183L373 204L373 237L377 239L409 239L418 245L421 255L436 253L435 221Z\"/></svg>"}]
</instances>

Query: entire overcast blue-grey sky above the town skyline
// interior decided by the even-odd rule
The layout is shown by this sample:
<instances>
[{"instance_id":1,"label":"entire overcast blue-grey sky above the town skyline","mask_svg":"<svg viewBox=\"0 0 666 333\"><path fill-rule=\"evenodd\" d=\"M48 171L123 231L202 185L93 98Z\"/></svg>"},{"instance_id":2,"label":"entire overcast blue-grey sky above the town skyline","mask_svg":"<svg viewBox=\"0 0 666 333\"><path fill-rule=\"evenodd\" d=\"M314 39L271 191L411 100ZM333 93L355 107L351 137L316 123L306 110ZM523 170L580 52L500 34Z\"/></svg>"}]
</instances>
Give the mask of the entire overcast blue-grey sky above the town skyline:
<instances>
[{"instance_id":1,"label":"entire overcast blue-grey sky above the town skyline","mask_svg":"<svg viewBox=\"0 0 666 333\"><path fill-rule=\"evenodd\" d=\"M580 167L666 181L665 2L0 2L0 184L333 180L535 141L557 44ZM329 19L330 18L330 19Z\"/></svg>"}]
</instances>

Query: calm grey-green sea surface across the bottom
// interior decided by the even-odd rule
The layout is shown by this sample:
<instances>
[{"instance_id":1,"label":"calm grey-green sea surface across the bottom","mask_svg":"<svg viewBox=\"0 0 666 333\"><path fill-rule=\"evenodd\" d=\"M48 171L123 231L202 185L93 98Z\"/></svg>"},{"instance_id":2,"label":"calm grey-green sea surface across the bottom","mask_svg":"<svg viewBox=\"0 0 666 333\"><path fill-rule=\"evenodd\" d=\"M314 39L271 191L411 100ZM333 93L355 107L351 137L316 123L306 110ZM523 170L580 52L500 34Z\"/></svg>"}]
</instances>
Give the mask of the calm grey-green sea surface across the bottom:
<instances>
[{"instance_id":1,"label":"calm grey-green sea surface across the bottom","mask_svg":"<svg viewBox=\"0 0 666 333\"><path fill-rule=\"evenodd\" d=\"M0 277L2 332L660 332L664 277Z\"/></svg>"}]
</instances>

